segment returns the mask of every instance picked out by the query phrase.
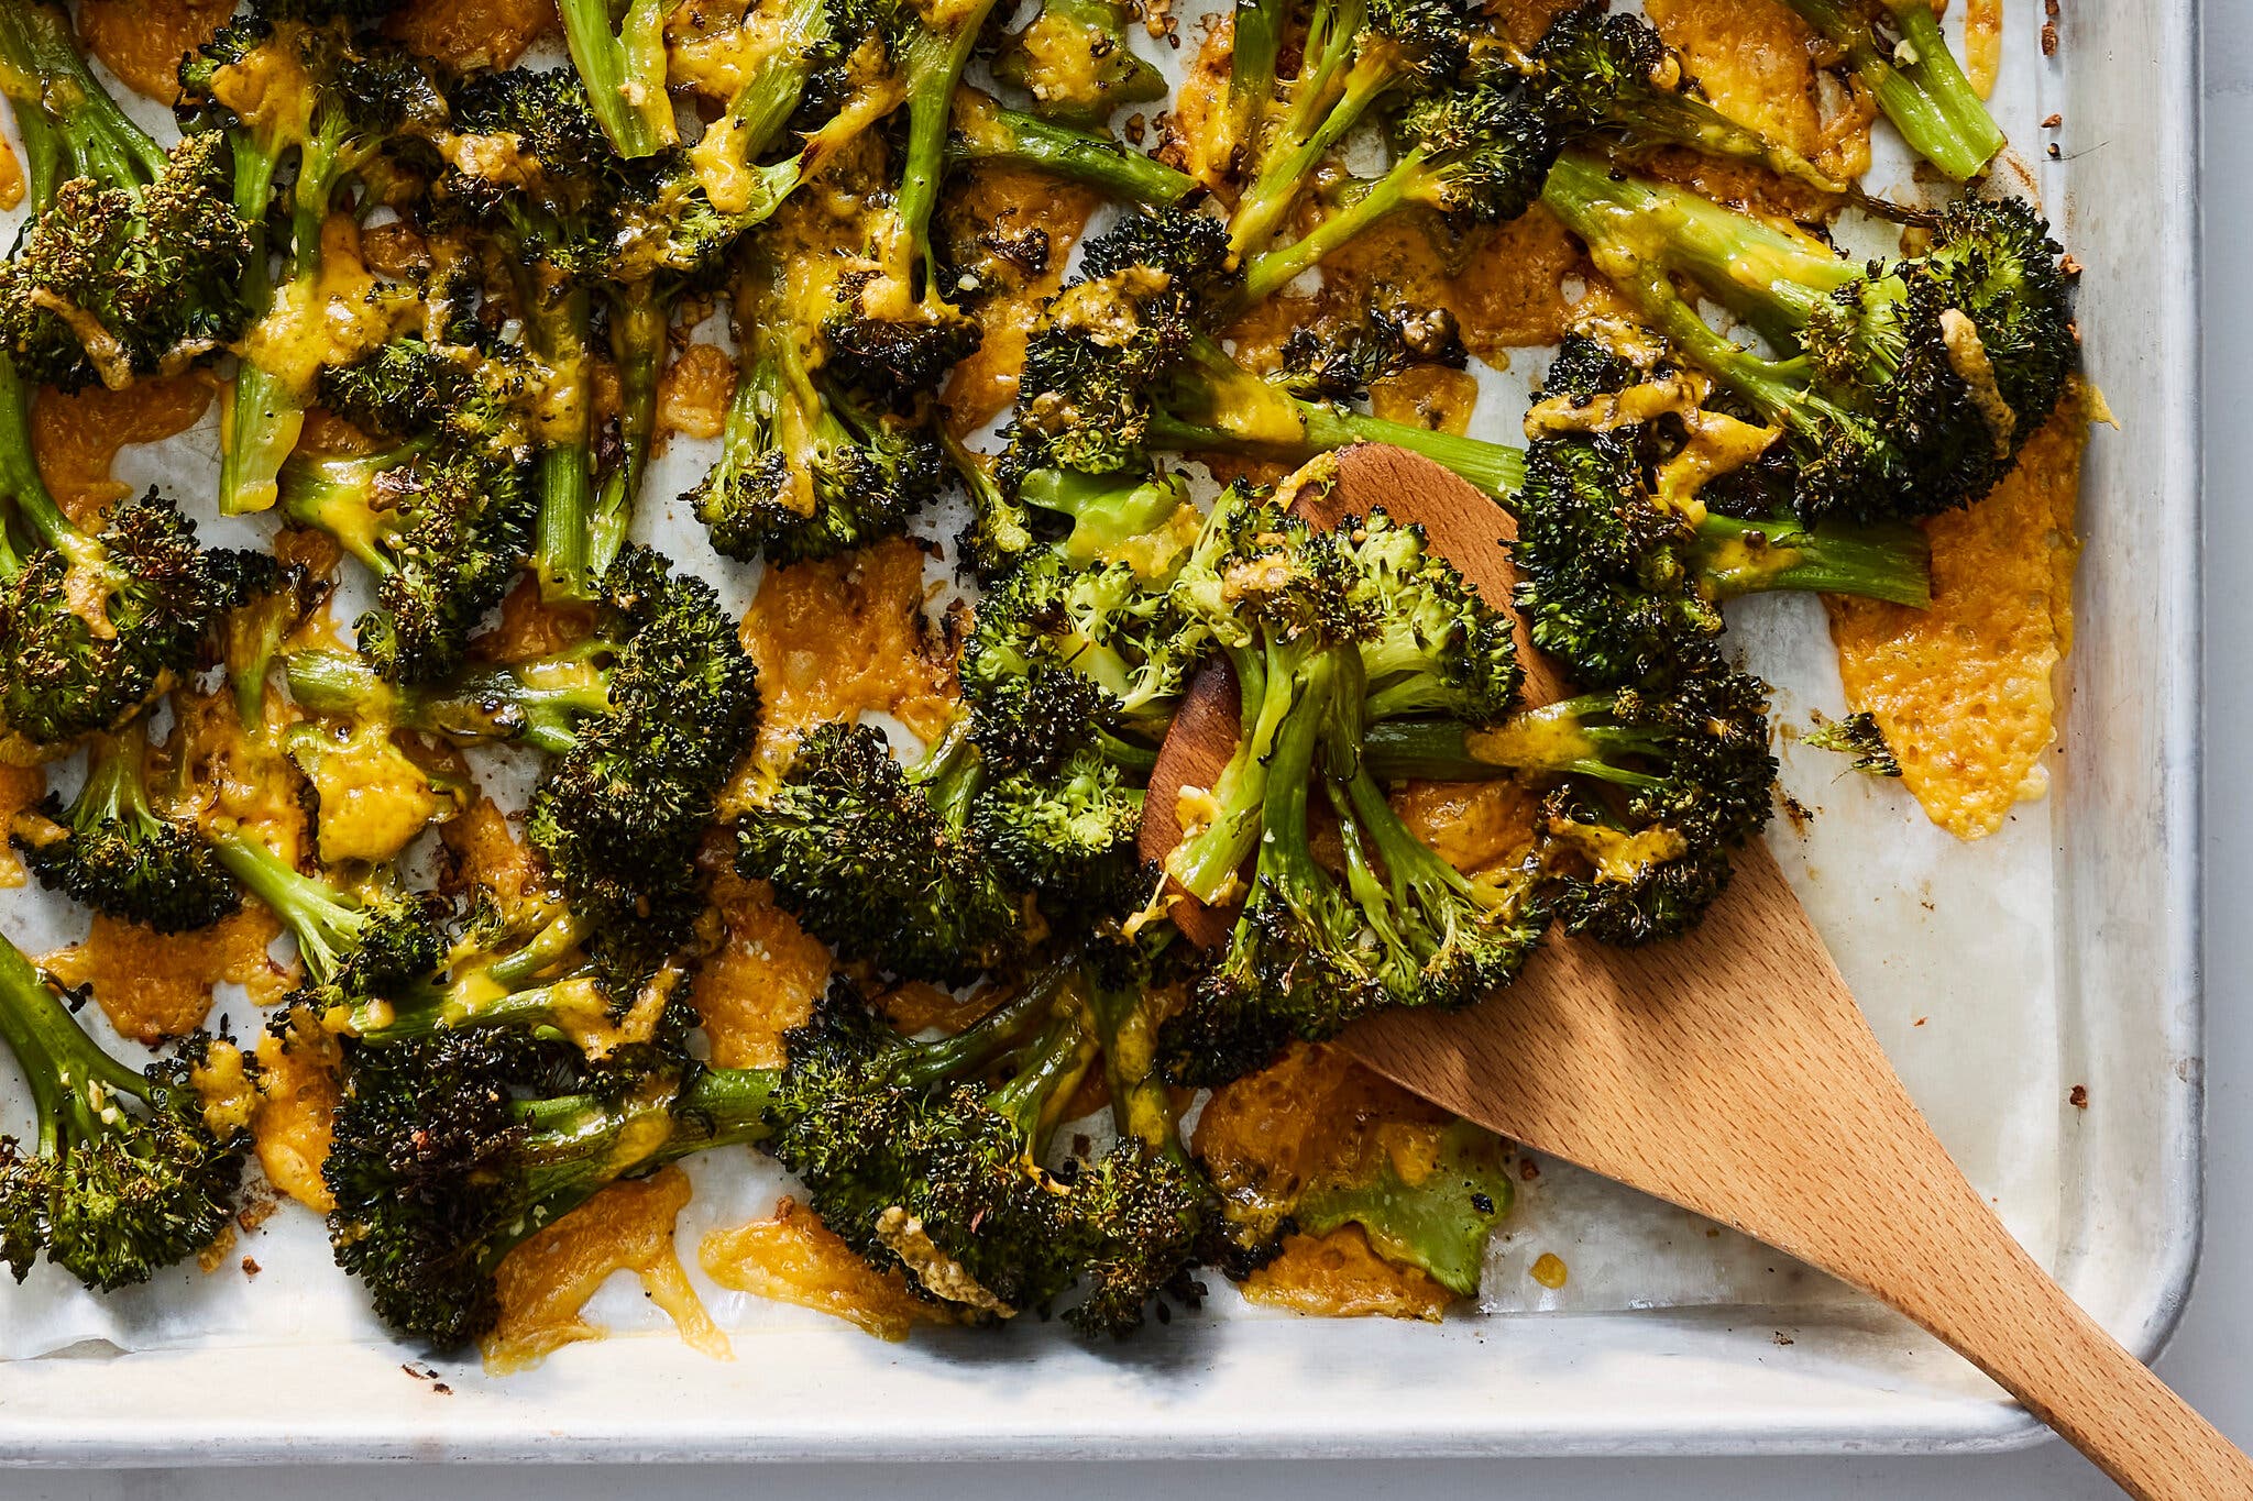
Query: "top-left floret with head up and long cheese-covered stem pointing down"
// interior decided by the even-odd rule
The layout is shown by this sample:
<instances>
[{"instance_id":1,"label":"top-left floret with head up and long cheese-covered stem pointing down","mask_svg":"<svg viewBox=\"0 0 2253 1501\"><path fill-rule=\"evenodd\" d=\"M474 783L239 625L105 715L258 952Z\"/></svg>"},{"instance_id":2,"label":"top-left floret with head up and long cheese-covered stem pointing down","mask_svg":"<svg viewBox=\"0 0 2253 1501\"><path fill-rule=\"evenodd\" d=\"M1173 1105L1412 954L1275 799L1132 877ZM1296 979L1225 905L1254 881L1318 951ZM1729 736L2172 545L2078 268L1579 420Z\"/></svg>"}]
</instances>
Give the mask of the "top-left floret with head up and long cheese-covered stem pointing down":
<instances>
[{"instance_id":1,"label":"top-left floret with head up and long cheese-covered stem pointing down","mask_svg":"<svg viewBox=\"0 0 2253 1501\"><path fill-rule=\"evenodd\" d=\"M261 88L261 79L279 83ZM320 369L351 362L388 333L381 297L331 302L322 286L329 214L349 205L354 173L394 137L442 131L446 101L417 59L354 38L342 23L243 16L180 63L178 115L189 131L225 135L234 212L257 234L241 299L261 322L239 347L219 509L266 511ZM277 171L291 162L295 173L277 194ZM288 214L270 243L266 223L282 196ZM268 252L279 252L277 279Z\"/></svg>"}]
</instances>

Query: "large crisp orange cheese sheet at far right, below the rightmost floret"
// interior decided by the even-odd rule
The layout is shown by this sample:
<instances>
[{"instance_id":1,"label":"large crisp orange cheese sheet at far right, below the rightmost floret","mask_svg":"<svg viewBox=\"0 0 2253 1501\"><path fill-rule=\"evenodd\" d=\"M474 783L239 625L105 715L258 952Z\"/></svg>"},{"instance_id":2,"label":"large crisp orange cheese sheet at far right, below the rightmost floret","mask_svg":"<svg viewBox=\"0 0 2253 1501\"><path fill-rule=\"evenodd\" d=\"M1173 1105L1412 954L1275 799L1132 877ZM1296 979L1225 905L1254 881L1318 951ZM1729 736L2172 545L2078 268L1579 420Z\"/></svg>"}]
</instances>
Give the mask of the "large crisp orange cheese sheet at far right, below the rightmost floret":
<instances>
[{"instance_id":1,"label":"large crisp orange cheese sheet at far right, below the rightmost floret","mask_svg":"<svg viewBox=\"0 0 2253 1501\"><path fill-rule=\"evenodd\" d=\"M1825 601L1847 704L1877 718L1902 785L1958 839L1992 835L2050 785L2086 437L2068 401L1992 495L1924 524L1931 610Z\"/></svg>"}]
</instances>

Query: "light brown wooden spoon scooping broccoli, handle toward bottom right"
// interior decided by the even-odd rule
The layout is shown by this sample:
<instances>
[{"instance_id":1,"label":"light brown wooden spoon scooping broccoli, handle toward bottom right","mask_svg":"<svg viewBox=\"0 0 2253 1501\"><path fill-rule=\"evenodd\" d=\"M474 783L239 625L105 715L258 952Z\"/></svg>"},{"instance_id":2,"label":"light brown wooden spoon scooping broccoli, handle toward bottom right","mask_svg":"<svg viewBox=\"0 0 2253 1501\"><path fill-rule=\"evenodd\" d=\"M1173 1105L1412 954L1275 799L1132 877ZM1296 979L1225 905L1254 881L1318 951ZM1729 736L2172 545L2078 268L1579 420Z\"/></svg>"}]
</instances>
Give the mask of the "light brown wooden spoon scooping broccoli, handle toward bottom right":
<instances>
[{"instance_id":1,"label":"light brown wooden spoon scooping broccoli, handle toward bottom right","mask_svg":"<svg viewBox=\"0 0 2253 1501\"><path fill-rule=\"evenodd\" d=\"M1510 518L1397 448L1341 455L1309 520L1383 506L1491 603ZM1561 695L1519 626L1528 702ZM1212 785L1237 736L1226 668L1192 686L1151 776L1142 853L1181 842L1174 799ZM1185 936L1230 916L1190 900ZM2010 1238L1886 1062L1766 846L1685 938L1613 950L1552 936L1471 1010L1390 1013L1345 1033L1379 1073L1480 1125L1719 1220L1902 1310L2057 1429L2131 1496L2253 1499L2253 1460L2167 1391Z\"/></svg>"}]
</instances>

